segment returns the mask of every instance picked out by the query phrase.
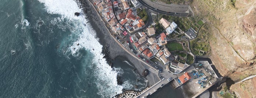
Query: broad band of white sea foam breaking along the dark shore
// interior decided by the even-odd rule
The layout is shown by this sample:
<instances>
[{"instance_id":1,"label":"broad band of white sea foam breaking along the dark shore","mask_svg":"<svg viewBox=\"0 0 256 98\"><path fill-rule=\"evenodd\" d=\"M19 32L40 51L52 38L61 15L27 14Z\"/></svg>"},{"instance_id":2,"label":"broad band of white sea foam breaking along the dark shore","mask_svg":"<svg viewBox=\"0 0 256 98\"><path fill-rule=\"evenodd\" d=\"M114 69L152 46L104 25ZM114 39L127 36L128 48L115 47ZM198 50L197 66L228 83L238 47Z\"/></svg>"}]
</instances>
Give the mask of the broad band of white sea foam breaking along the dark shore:
<instances>
[{"instance_id":1,"label":"broad band of white sea foam breaking along the dark shore","mask_svg":"<svg viewBox=\"0 0 256 98\"><path fill-rule=\"evenodd\" d=\"M96 38L96 33L92 27L86 24L87 20L83 16L82 10L78 7L77 3L73 0L39 0L45 5L45 9L49 14L61 15L60 20L69 19L74 22L74 32L79 38L73 42L69 50L73 56L79 56L79 50L86 49L94 55L92 64L97 66L97 70L93 70L96 77L95 83L99 90L97 94L103 98L114 97L116 94L122 93L123 86L117 84L116 76L118 72L112 70L107 64L107 61L103 59L104 55L101 54L102 45ZM75 16L75 12L80 12L80 16ZM80 31L80 32L79 32ZM79 44L79 45L78 45ZM95 67L96 68L96 67Z\"/></svg>"}]
</instances>

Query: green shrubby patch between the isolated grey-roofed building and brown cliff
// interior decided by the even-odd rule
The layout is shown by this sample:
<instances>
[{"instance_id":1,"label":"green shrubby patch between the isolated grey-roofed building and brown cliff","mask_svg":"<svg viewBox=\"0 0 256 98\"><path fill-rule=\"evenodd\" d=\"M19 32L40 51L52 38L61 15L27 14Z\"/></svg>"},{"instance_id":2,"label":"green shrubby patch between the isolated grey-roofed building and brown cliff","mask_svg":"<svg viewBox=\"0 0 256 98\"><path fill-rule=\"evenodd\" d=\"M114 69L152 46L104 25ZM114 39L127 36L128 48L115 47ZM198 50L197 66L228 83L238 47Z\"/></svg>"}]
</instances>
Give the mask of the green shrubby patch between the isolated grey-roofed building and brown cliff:
<instances>
[{"instance_id":1,"label":"green shrubby patch between the isolated grey-roofed building and brown cliff","mask_svg":"<svg viewBox=\"0 0 256 98\"><path fill-rule=\"evenodd\" d=\"M199 31L197 38L190 41L191 51L196 55L204 56L210 52L209 38L211 34L207 30L209 30L208 27L204 25Z\"/></svg>"}]
</instances>

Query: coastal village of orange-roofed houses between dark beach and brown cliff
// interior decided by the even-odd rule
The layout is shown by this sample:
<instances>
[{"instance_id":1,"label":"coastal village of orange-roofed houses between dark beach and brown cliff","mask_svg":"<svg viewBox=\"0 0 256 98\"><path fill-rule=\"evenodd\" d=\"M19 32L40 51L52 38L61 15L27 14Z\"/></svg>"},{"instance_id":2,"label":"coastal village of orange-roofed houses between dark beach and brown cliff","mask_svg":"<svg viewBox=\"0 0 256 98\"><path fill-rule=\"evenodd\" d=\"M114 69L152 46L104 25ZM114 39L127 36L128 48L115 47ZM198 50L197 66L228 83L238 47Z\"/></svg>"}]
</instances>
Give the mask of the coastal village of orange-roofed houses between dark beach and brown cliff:
<instances>
[{"instance_id":1,"label":"coastal village of orange-roofed houses between dark beach and brown cliff","mask_svg":"<svg viewBox=\"0 0 256 98\"><path fill-rule=\"evenodd\" d=\"M191 52L189 40L198 34L192 27L183 31L175 22L165 18L155 21L153 17L160 13L150 9L145 11L137 0L94 0L93 3L115 39L152 67L149 71L155 72L160 79L139 95L129 95L130 98L146 97L169 82L177 88L187 81L186 86L189 85L187 88L192 91L189 97L196 97L221 77L211 67L211 60L198 61Z\"/></svg>"}]
</instances>

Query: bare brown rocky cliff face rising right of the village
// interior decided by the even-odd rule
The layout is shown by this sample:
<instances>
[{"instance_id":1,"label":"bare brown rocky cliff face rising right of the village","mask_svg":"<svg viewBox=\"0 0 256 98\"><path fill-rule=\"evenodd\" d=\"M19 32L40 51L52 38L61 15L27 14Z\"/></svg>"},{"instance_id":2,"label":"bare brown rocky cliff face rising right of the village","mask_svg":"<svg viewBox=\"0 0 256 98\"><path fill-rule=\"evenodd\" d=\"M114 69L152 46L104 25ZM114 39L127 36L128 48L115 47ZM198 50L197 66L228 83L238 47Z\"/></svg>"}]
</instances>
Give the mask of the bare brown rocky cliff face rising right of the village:
<instances>
[{"instance_id":1,"label":"bare brown rocky cliff face rising right of the village","mask_svg":"<svg viewBox=\"0 0 256 98\"><path fill-rule=\"evenodd\" d=\"M194 0L191 7L196 17L201 18L205 26L210 28L210 58L221 75L235 82L255 75L256 1ZM251 85L255 87L255 83ZM232 86L231 89L246 98L240 94L243 93L240 87ZM246 87L243 89L247 94L254 90Z\"/></svg>"}]
</instances>

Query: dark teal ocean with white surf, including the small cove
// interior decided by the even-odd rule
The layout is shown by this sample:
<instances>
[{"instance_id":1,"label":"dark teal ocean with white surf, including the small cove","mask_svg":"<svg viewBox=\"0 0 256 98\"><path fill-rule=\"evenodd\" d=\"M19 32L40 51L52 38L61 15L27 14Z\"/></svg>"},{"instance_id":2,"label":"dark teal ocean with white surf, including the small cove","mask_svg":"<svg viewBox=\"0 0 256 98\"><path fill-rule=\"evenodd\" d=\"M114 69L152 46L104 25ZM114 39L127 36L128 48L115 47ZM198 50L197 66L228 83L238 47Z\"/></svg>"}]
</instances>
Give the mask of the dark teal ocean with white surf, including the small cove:
<instances>
[{"instance_id":1,"label":"dark teal ocean with white surf, including the small cove","mask_svg":"<svg viewBox=\"0 0 256 98\"><path fill-rule=\"evenodd\" d=\"M129 61L107 64L78 6L74 0L1 0L0 98L110 98L145 88Z\"/></svg>"}]
</instances>

